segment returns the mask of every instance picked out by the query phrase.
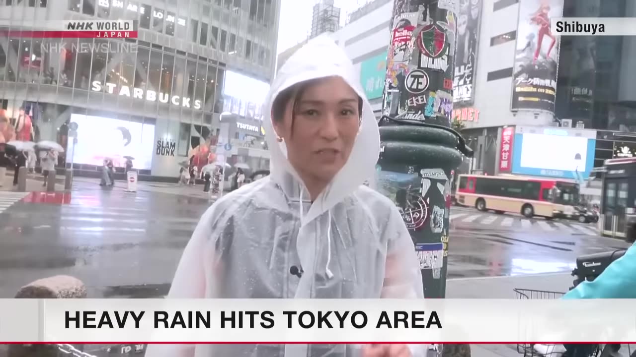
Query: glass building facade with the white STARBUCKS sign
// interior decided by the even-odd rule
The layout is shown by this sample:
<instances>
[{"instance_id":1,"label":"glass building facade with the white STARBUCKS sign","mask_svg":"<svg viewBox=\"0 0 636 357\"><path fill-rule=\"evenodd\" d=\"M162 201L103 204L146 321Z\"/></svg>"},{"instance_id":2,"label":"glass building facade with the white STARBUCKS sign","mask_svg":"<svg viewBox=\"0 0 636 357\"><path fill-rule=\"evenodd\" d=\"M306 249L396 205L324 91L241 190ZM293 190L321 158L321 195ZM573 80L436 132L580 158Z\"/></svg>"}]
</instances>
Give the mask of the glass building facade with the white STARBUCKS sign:
<instances>
[{"instance_id":1,"label":"glass building facade with the white STARBUCKS sign","mask_svg":"<svg viewBox=\"0 0 636 357\"><path fill-rule=\"evenodd\" d=\"M226 133L232 137L225 142L236 144L227 154L241 156L242 147L242 154L253 149L266 158L262 140L252 137L262 137L253 128L260 128L259 100L275 70L279 12L278 0L3 1L1 108L16 135L30 121L34 140L75 142L64 159L79 170L133 156L142 177L177 177L180 162L202 166L212 159L221 113L226 121L249 124ZM86 18L137 20L139 36L8 33ZM249 93L237 94L244 85Z\"/></svg>"}]
</instances>

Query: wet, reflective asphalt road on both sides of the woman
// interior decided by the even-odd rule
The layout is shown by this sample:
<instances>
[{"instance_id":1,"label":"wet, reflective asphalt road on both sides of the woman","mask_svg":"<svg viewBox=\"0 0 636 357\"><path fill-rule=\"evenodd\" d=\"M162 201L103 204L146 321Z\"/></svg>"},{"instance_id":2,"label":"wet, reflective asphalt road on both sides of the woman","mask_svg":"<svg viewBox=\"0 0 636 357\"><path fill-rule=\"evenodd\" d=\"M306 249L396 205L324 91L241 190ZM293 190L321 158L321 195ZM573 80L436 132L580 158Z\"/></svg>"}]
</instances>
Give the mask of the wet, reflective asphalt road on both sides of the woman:
<instances>
[{"instance_id":1,"label":"wet, reflective asphalt road on both sides of the woman","mask_svg":"<svg viewBox=\"0 0 636 357\"><path fill-rule=\"evenodd\" d=\"M46 203L38 202L39 194L29 194L11 205L6 202L12 198L0 192L8 206L0 213L0 298L56 274L83 280L90 297L165 295L207 199L77 188ZM476 214L484 217L468 219ZM518 217L518 224L502 226L473 208L453 208L453 215L449 278L565 272L578 255L626 246L558 225L546 231Z\"/></svg>"}]
</instances>

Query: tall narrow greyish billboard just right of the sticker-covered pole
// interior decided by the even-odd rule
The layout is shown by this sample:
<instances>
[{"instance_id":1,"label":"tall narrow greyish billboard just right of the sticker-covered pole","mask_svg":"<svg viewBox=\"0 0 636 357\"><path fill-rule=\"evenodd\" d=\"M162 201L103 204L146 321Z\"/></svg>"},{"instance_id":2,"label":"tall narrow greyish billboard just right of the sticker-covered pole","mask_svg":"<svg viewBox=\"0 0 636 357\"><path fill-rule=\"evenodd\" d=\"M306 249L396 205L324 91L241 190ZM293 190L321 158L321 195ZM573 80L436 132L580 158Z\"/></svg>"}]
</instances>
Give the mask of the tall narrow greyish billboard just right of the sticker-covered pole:
<instances>
[{"instance_id":1,"label":"tall narrow greyish billboard just right of the sticker-covered pole","mask_svg":"<svg viewBox=\"0 0 636 357\"><path fill-rule=\"evenodd\" d=\"M481 0L461 0L457 14L453 81L453 103L457 105L469 105L474 101L481 6Z\"/></svg>"}]
</instances>

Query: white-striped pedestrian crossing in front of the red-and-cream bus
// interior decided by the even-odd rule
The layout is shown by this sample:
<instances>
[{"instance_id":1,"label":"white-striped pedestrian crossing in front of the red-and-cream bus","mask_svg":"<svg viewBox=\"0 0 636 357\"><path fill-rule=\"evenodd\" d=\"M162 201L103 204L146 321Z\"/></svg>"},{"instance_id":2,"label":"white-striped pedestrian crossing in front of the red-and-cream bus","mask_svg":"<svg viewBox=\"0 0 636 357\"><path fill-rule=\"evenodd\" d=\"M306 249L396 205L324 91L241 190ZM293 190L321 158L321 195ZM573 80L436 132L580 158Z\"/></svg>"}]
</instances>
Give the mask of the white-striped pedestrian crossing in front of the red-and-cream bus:
<instances>
[{"instance_id":1,"label":"white-striped pedestrian crossing in front of the red-and-cream bus","mask_svg":"<svg viewBox=\"0 0 636 357\"><path fill-rule=\"evenodd\" d=\"M567 220L525 219L523 217L506 217L505 215L490 215L485 213L455 213L450 215L455 224L480 224L490 227L539 229L544 232L567 232L567 234L584 234L598 236L596 225L579 224Z\"/></svg>"}]
</instances>

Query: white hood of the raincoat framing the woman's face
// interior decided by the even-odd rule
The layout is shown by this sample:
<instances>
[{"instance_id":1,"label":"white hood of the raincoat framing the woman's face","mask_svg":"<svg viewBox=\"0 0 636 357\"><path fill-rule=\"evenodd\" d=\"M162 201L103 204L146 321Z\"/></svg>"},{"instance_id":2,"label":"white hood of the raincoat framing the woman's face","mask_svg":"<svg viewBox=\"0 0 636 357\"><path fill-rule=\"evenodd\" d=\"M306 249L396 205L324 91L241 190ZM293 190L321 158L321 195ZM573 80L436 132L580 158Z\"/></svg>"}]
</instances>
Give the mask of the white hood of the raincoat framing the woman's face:
<instances>
[{"instance_id":1,"label":"white hood of the raincoat framing the woman's face","mask_svg":"<svg viewBox=\"0 0 636 357\"><path fill-rule=\"evenodd\" d=\"M338 76L356 91L363 100L362 120L356 142L345 166L338 172L331 184L315 199L319 205L312 205L303 224L318 217L336 203L342 201L365 180L375 174L375 165L380 155L380 133L378 124L371 109L371 104L364 95L359 75L349 57L331 38L319 36L308 41L282 66L273 81L266 97L263 126L267 145L270 148L270 177L283 187L286 194L296 196L300 193L308 198L305 185L287 159L287 148L284 142L277 141L277 133L272 123L272 105L281 91L310 79ZM298 189L301 191L298 192ZM305 191L305 192L303 192Z\"/></svg>"}]
</instances>

